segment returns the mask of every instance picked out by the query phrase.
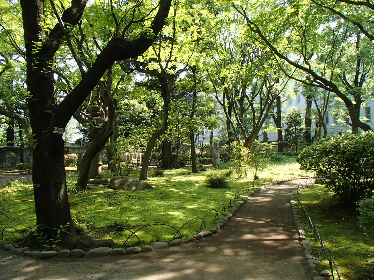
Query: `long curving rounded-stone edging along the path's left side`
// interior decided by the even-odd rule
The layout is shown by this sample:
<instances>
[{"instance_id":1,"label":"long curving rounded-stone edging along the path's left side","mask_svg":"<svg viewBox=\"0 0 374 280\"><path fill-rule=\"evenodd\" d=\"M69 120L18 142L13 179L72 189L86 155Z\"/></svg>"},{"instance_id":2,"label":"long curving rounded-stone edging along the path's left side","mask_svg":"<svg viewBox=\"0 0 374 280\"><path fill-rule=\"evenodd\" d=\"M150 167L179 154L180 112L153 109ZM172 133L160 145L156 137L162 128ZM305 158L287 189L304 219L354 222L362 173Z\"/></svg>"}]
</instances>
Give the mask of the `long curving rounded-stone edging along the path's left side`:
<instances>
[{"instance_id":1,"label":"long curving rounded-stone edging along the path's left side","mask_svg":"<svg viewBox=\"0 0 374 280\"><path fill-rule=\"evenodd\" d=\"M254 195L257 192L260 192L261 190L266 189L266 187L274 186L276 184L285 183L287 181L293 181L298 179L307 179L307 178L314 178L314 177L298 177L298 178L292 178L288 180L282 180L282 181L276 181L270 184L263 185L261 187L258 187L255 190L251 190L248 192L247 195L243 195L241 197L241 200L237 201L237 205L231 208L231 212L222 212L222 214L225 216L224 218L221 218L219 220L214 221L215 226L212 227L210 230L202 230L198 234L194 234L193 236L188 236L184 240L183 239L174 239L170 243L167 242L153 242L151 245L145 245L140 247L129 247L127 249L124 248L109 248L109 247L97 247L92 248L89 250L82 250L82 249L73 249L68 250L64 249L59 252L56 251L32 251L28 247L24 248L16 248L13 245L7 243L5 240L0 240L0 249L4 249L5 251L9 251L10 253L14 255L24 255L31 258L41 258L41 259L48 259L52 257L58 257L58 258L91 258L91 257L102 257L102 256L118 256L118 255L126 255L126 254L137 254L142 252L150 252L154 251L156 249L162 249L167 248L169 246L178 246L183 243L188 242L194 242L195 240L202 239L203 237L211 236L212 234L216 234L221 232L221 230L224 228L226 223L229 222L229 220L235 215L235 213L238 211L238 209L247 201L249 200L249 196ZM291 205L292 207L293 205ZM293 208L293 207L292 207ZM295 214L295 213L294 213ZM300 217L300 216L299 216ZM300 236L299 236L300 239ZM318 279L316 279L318 280Z\"/></svg>"}]
</instances>

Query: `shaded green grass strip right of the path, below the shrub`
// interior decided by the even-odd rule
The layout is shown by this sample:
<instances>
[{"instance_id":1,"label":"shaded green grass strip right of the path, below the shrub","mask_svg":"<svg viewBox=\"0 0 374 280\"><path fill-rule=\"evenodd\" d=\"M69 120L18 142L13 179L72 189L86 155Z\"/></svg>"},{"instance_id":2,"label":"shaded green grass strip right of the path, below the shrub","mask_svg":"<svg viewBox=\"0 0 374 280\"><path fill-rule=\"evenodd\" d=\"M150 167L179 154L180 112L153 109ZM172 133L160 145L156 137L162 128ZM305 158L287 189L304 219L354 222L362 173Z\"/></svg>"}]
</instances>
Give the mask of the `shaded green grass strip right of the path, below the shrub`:
<instances>
[{"instance_id":1,"label":"shaded green grass strip right of the path, below the shrub","mask_svg":"<svg viewBox=\"0 0 374 280\"><path fill-rule=\"evenodd\" d=\"M334 258L341 277L349 280L373 280L373 233L365 232L358 227L358 211L352 207L344 208L336 205L331 193L326 193L326 188L320 184L302 190L300 201L313 224L317 225L319 234L325 240L329 255ZM304 218L303 223L308 224L304 215L300 215ZM313 235L311 228L308 227L306 231ZM322 259L318 241L313 245L312 252L322 262L318 269L329 269L327 259Z\"/></svg>"}]
</instances>

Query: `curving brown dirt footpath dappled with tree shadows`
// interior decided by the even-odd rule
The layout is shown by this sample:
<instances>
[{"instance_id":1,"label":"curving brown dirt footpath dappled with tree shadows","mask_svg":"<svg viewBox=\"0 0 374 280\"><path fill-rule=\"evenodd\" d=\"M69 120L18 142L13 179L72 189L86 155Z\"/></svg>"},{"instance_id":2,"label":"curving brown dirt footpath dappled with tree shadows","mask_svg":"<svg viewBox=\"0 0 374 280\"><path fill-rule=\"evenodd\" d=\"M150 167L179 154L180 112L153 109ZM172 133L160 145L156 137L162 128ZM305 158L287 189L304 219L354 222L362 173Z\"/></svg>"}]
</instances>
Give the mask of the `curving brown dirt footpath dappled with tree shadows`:
<instances>
[{"instance_id":1,"label":"curving brown dirt footpath dappled with tree shadows","mask_svg":"<svg viewBox=\"0 0 374 280\"><path fill-rule=\"evenodd\" d=\"M0 280L305 280L289 207L295 180L251 196L222 233L137 255L31 259L0 250Z\"/></svg>"}]
</instances>

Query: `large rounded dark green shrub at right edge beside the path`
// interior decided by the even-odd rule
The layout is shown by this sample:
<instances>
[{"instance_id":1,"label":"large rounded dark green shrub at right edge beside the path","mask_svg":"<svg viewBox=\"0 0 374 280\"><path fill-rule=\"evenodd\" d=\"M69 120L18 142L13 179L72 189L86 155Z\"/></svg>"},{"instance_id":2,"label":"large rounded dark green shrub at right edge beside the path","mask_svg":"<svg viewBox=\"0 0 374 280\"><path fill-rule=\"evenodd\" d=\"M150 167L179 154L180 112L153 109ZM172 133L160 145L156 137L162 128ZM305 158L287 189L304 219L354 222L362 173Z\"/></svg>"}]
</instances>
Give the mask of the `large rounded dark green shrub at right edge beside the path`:
<instances>
[{"instance_id":1,"label":"large rounded dark green shrub at right edge beside the path","mask_svg":"<svg viewBox=\"0 0 374 280\"><path fill-rule=\"evenodd\" d=\"M374 194L374 132L344 134L306 147L297 159L302 169L316 171L342 203Z\"/></svg>"}]
</instances>

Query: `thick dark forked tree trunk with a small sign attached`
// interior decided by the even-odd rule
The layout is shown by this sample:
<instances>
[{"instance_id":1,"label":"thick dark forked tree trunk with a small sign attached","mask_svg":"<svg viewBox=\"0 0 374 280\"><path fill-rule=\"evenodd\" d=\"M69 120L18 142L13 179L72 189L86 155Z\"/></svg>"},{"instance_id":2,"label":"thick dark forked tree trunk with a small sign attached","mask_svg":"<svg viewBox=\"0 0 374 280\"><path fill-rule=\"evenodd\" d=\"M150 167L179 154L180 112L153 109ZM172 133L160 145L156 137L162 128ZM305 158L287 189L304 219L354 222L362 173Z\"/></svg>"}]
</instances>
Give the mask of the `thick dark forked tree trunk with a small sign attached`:
<instances>
[{"instance_id":1,"label":"thick dark forked tree trunk with a small sign attached","mask_svg":"<svg viewBox=\"0 0 374 280\"><path fill-rule=\"evenodd\" d=\"M71 7L61 16L62 22L74 27L83 14L86 2L87 0L71 1ZM64 42L65 28L57 23L46 35L43 1L21 0L21 7L27 63L26 83L30 93L28 107L36 143L33 154L36 223L56 228L69 223L67 230L74 232L67 196L64 140L61 133L111 63L145 52L155 36L144 35L133 41L120 38L111 40L78 85L62 102L56 104L50 62L54 61L55 53ZM158 34L165 24L169 8L170 2L162 0L150 26L154 34ZM99 145L100 148L103 146L102 143L97 146ZM51 237L56 234L56 231L50 231Z\"/></svg>"}]
</instances>

